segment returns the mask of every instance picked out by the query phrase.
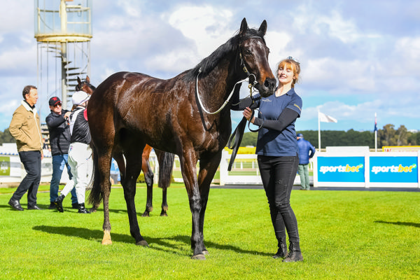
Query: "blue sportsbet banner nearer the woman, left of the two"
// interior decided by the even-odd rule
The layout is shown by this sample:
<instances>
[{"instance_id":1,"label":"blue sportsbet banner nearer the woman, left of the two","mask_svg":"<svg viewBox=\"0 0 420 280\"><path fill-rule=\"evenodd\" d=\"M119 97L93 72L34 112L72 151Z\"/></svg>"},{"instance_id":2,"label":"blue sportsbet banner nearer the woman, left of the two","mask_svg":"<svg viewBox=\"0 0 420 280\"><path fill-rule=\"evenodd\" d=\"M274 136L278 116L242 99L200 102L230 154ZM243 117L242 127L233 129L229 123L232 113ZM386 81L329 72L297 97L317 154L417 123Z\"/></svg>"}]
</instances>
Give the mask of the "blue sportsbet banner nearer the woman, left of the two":
<instances>
[{"instance_id":1,"label":"blue sportsbet banner nearer the woman, left of the two","mask_svg":"<svg viewBox=\"0 0 420 280\"><path fill-rule=\"evenodd\" d=\"M364 157L318 156L319 182L365 182Z\"/></svg>"}]
</instances>

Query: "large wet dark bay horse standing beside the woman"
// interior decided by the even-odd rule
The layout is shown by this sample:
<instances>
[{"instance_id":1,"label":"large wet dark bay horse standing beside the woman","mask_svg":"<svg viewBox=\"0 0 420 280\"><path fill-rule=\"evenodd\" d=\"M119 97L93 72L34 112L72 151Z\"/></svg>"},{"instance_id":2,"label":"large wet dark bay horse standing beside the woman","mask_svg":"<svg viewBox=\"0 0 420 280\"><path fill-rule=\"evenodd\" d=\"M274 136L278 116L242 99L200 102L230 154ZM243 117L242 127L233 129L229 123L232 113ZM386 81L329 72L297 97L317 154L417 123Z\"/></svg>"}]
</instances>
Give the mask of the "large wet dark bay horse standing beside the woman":
<instances>
[{"instance_id":1,"label":"large wet dark bay horse standing beside the woman","mask_svg":"<svg viewBox=\"0 0 420 280\"><path fill-rule=\"evenodd\" d=\"M137 245L148 246L140 234L134 196L141 172L139 158L149 144L179 155L193 216L192 258L205 260L209 252L204 246L204 214L210 183L231 132L229 99L232 94L237 97L239 87L235 86L246 77L262 97L273 94L276 86L268 63L266 31L265 20L257 30L248 29L244 19L238 34L194 69L168 80L119 72L98 85L87 106L94 144L94 184L89 201L104 201L102 244L112 243L109 170L111 157L121 154L126 160L123 188L130 233Z\"/></svg>"}]
</instances>

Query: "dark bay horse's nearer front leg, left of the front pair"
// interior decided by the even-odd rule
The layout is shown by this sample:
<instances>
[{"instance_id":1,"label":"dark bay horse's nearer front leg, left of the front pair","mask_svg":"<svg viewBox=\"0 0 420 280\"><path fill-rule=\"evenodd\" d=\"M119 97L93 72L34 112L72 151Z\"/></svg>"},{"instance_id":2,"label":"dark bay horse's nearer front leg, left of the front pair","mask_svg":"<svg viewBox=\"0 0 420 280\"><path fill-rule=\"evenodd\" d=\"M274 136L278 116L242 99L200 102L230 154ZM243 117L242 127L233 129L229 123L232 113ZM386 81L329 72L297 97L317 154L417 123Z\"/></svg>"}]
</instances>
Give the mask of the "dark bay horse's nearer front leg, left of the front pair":
<instances>
[{"instance_id":1,"label":"dark bay horse's nearer front leg, left of the front pair","mask_svg":"<svg viewBox=\"0 0 420 280\"><path fill-rule=\"evenodd\" d=\"M200 213L201 213L201 197L197 183L197 157L194 151L184 150L180 157L181 172L183 181L186 185L188 200L190 202L190 211L193 216L193 231L191 234L191 248L193 249L194 260L205 260L203 251L207 251L204 247L203 234L200 232Z\"/></svg>"}]
</instances>

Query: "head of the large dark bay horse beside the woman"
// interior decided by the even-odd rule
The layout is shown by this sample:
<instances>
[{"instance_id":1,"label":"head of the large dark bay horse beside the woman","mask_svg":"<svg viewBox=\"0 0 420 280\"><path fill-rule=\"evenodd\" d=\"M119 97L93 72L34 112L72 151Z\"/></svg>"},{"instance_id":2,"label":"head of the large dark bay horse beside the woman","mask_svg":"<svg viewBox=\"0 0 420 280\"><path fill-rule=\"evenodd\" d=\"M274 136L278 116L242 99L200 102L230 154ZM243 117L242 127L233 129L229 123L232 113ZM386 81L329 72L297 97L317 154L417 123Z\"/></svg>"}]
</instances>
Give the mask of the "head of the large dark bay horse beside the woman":
<instances>
[{"instance_id":1,"label":"head of the large dark bay horse beside the woman","mask_svg":"<svg viewBox=\"0 0 420 280\"><path fill-rule=\"evenodd\" d=\"M260 28L248 29L246 19L241 22L239 31L239 59L241 67L248 75L249 83L255 86L262 97L274 93L276 78L268 63L269 48L265 44L264 36L267 22L264 20Z\"/></svg>"}]
</instances>

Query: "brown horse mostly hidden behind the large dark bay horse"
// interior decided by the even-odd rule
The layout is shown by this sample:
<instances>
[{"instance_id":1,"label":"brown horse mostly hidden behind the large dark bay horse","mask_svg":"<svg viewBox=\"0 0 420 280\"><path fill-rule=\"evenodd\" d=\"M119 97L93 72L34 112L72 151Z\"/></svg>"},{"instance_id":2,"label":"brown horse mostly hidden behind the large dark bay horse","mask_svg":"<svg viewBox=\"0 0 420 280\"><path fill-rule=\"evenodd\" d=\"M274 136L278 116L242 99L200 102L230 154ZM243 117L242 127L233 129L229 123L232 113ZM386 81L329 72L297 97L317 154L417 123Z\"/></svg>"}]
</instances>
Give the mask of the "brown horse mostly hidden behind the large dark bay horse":
<instances>
[{"instance_id":1,"label":"brown horse mostly hidden behind the large dark bay horse","mask_svg":"<svg viewBox=\"0 0 420 280\"><path fill-rule=\"evenodd\" d=\"M80 78L77 77L77 83L78 84L76 85L76 88L75 88L76 91L83 91L92 95L94 90L96 90L96 87L94 87L94 85L90 83L89 76L86 76L85 80L80 80ZM141 215L143 217L150 216L151 211L153 211L154 174L153 174L150 160L149 160L152 149L153 148L151 146L146 145L146 147L143 150L143 154L141 155L141 170L143 171L144 181L146 182L146 187L147 187L146 210L144 211L143 215ZM167 188L169 188L169 185L171 184L172 169L174 167L174 154L165 153L159 150L155 150L155 153L158 157L158 162L159 162L158 186L159 188L162 188L162 204L161 204L162 211L160 211L160 216L168 216L167 214L167 211L168 211ZM121 165L123 168L125 168L123 164ZM98 207L99 207L99 204L95 204L92 207L92 209L90 209L90 211L96 212Z\"/></svg>"}]
</instances>

